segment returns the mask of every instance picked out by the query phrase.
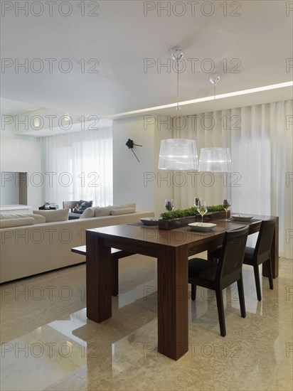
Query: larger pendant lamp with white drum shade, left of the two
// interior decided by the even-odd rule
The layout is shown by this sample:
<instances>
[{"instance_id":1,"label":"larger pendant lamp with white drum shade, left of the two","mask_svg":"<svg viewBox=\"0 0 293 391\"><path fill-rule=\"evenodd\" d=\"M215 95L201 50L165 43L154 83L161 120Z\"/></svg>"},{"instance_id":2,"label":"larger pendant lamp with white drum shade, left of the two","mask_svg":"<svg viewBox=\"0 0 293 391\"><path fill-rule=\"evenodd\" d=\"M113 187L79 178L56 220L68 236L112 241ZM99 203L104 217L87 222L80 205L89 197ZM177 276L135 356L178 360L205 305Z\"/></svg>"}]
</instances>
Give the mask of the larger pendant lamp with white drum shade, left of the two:
<instances>
[{"instance_id":1,"label":"larger pendant lamp with white drum shade, left of the two","mask_svg":"<svg viewBox=\"0 0 293 391\"><path fill-rule=\"evenodd\" d=\"M179 61L184 50L179 46L171 48L172 59L177 63L177 115L179 117ZM198 170L196 141L192 139L161 140L159 152L160 170Z\"/></svg>"}]
</instances>

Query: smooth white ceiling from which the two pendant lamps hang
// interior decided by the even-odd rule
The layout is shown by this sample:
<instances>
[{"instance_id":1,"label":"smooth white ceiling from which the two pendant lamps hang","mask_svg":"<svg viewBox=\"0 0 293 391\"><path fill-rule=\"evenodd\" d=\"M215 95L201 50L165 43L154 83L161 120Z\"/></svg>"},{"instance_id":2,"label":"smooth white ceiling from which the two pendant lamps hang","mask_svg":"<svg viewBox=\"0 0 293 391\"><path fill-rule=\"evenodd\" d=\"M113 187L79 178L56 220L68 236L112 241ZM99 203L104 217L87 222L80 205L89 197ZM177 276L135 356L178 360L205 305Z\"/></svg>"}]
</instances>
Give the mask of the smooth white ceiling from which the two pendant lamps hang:
<instances>
[{"instance_id":1,"label":"smooth white ceiling from which the two pendant lamps hang","mask_svg":"<svg viewBox=\"0 0 293 391\"><path fill-rule=\"evenodd\" d=\"M166 11L159 15L156 1L69 1L72 5L69 16L60 15L56 6L53 6L52 16L48 6L44 6L43 15L33 16L40 11L37 5L28 8L28 16L23 11L16 16L16 2L8 3L14 4L14 9L6 11L1 18L2 64L3 59L11 63L11 67L1 69L4 114L18 114L18 110L23 112L25 107L27 111L48 107L74 114L110 117L174 103L176 72L172 68L169 72L157 67L159 61L162 64L171 61L169 48L174 45L186 50L186 70L179 79L181 101L213 95L208 70L211 64L215 65L212 72L221 75L217 94L288 82L293 78L292 68L289 72L286 70L286 59L293 58L293 11L286 15L288 1L199 1L198 4L194 1L194 9L191 1L169 1L169 16ZM28 1L28 7L33 3L40 2ZM80 4L85 4L85 15L90 11L99 15L81 16ZM166 4L167 1L161 1L161 5ZM227 16L223 15L223 4L227 4ZM96 10L95 5L98 5ZM156 8L146 12L144 6ZM65 6L61 9L64 14L67 10ZM178 16L183 11L185 14ZM211 16L204 15L210 12ZM231 16L233 13L240 16ZM30 68L40 64L33 62L36 58L44 65L41 73ZM56 59L52 73L48 58ZM58 68L64 58L73 65L69 73ZM196 58L198 60L192 60ZM28 72L18 68L16 73L17 61L24 63L25 59ZM88 64L90 59L96 60ZM155 66L144 70L146 59L152 59L149 61ZM228 67L223 71L225 59ZM95 61L98 61L95 67L98 73L89 73ZM62 64L65 69L67 63ZM233 73L235 65L239 65L234 68L239 73ZM203 66L206 71L201 69ZM217 108L290 98L292 87L252 97L219 100ZM16 102L13 105L11 101ZM184 107L183 114L212 108L210 101Z\"/></svg>"}]
</instances>

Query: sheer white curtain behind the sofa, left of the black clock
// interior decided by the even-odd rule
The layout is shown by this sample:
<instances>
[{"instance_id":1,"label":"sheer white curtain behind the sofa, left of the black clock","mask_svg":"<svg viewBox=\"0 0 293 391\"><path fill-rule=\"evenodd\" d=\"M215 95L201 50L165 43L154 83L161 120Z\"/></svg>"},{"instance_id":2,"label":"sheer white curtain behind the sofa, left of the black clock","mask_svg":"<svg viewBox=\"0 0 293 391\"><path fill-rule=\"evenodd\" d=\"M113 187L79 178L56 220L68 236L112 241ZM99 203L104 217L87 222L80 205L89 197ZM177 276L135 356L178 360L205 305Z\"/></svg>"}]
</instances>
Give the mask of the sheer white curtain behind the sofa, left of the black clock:
<instances>
[{"instance_id":1,"label":"sheer white curtain behind the sofa, left of the black clock","mask_svg":"<svg viewBox=\"0 0 293 391\"><path fill-rule=\"evenodd\" d=\"M42 198L112 204L112 128L41 138Z\"/></svg>"}]
</instances>

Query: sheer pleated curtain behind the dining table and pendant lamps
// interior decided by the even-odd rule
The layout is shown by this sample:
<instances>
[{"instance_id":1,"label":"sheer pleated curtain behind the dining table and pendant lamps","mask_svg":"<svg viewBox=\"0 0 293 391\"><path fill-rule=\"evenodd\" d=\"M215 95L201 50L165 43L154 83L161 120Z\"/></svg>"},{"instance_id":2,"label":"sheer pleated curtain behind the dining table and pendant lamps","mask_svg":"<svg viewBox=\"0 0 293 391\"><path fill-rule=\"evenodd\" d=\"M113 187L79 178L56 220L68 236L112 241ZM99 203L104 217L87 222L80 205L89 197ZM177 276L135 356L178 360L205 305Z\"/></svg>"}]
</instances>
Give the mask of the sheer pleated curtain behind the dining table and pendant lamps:
<instances>
[{"instance_id":1,"label":"sheer pleated curtain behind the dining table and pendant lamps","mask_svg":"<svg viewBox=\"0 0 293 391\"><path fill-rule=\"evenodd\" d=\"M174 183L176 208L193 205L195 195L214 205L230 196L235 212L277 215L279 255L292 259L293 101L219 111L215 138L209 125L212 115L185 117L180 136L196 139L198 154L204 146L230 146L233 172L179 173L186 183Z\"/></svg>"}]
</instances>

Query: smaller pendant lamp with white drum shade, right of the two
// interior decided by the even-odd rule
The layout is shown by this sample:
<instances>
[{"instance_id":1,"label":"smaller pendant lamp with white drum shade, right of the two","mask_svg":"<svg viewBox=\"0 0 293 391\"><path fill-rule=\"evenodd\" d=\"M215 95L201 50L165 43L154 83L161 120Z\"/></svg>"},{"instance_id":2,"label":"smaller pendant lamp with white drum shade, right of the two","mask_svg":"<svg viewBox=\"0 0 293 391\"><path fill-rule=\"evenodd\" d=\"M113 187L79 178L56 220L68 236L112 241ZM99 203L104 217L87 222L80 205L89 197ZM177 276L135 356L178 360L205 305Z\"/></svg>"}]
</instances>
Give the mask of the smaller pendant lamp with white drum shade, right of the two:
<instances>
[{"instance_id":1,"label":"smaller pendant lamp with white drum shade, right of the two","mask_svg":"<svg viewBox=\"0 0 293 391\"><path fill-rule=\"evenodd\" d=\"M220 75L211 75L210 82L214 89L214 124L213 124L213 144L215 145L215 86L220 80ZM199 171L210 172L231 172L230 148L213 146L202 148L199 156Z\"/></svg>"}]
</instances>

